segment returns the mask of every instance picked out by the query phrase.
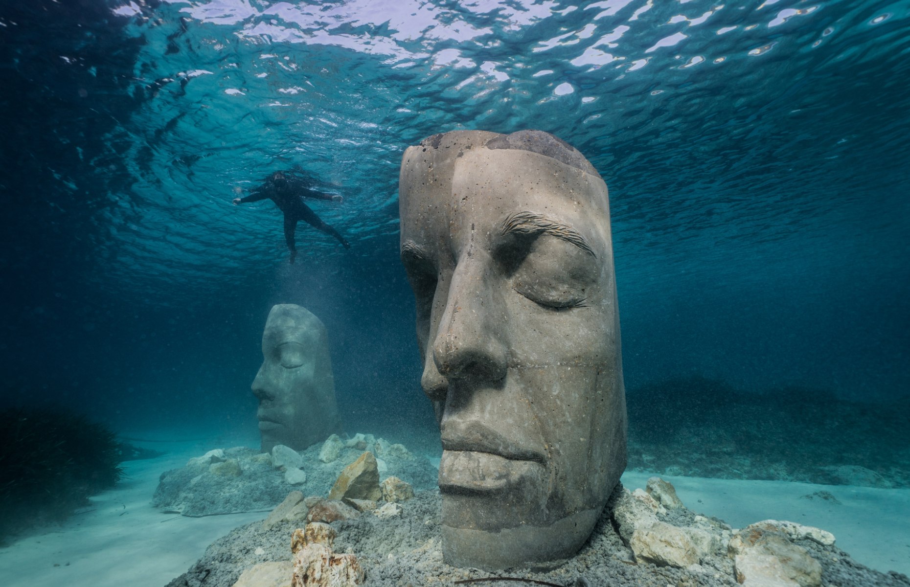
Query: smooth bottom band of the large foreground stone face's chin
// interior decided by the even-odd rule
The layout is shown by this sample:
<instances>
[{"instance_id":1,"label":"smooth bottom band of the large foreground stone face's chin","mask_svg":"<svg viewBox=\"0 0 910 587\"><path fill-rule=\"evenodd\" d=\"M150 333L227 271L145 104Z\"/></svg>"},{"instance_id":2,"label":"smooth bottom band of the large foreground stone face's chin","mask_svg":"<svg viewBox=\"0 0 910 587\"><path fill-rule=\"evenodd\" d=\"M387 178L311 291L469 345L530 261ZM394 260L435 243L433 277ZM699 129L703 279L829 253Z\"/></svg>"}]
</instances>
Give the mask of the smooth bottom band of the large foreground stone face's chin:
<instances>
[{"instance_id":1,"label":"smooth bottom band of the large foreground stone face's chin","mask_svg":"<svg viewBox=\"0 0 910 587\"><path fill-rule=\"evenodd\" d=\"M521 525L500 531L442 525L442 557L455 567L501 571L511 567L541 568L571 557L581 548L601 509L571 514L549 525Z\"/></svg>"}]
</instances>

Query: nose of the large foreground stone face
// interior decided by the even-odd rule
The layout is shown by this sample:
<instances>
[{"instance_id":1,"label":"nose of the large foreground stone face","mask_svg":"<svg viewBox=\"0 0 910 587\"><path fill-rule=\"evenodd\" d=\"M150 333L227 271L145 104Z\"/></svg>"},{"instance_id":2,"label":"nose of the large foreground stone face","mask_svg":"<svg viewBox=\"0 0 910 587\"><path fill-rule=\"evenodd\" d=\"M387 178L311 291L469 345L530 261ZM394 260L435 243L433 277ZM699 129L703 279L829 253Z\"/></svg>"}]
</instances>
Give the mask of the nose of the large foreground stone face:
<instances>
[{"instance_id":1,"label":"nose of the large foreground stone face","mask_svg":"<svg viewBox=\"0 0 910 587\"><path fill-rule=\"evenodd\" d=\"M446 380L492 382L506 375L508 357L502 343L506 317L498 310L501 305L493 299L490 278L479 265L456 268L433 341L432 365Z\"/></svg>"}]
</instances>

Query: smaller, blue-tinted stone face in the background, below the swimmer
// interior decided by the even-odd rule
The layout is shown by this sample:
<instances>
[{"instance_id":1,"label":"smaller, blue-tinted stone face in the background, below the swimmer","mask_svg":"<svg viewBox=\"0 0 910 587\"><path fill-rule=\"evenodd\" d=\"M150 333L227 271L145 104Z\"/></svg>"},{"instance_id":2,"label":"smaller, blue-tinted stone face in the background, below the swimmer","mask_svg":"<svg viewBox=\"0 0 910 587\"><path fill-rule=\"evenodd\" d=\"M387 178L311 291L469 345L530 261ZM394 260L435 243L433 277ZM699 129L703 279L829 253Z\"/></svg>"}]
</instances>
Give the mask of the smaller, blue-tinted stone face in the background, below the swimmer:
<instances>
[{"instance_id":1,"label":"smaller, blue-tinted stone face in the background, below the swimmer","mask_svg":"<svg viewBox=\"0 0 910 587\"><path fill-rule=\"evenodd\" d=\"M262 333L262 367L253 380L262 450L294 450L341 430L329 340L322 321L294 304L272 307Z\"/></svg>"}]
</instances>

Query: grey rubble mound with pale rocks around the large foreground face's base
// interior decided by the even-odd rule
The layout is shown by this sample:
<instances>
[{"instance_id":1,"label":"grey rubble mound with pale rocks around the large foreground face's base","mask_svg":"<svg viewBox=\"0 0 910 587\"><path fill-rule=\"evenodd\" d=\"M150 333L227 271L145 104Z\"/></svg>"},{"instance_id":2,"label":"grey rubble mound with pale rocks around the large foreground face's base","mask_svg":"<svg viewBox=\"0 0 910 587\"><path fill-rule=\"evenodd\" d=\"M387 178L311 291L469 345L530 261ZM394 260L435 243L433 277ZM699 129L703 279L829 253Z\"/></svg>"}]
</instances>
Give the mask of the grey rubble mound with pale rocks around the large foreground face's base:
<instances>
[{"instance_id":1,"label":"grey rubble mound with pale rocks around the large foreground face's base","mask_svg":"<svg viewBox=\"0 0 910 587\"><path fill-rule=\"evenodd\" d=\"M288 496L281 511L298 507L299 499L299 494ZM439 491L418 491L402 502L307 498L303 504L309 522L303 530L299 518L288 521L287 514L278 513L276 518L284 521L270 530L262 523L238 528L213 543L169 587L288 587L292 576L295 587L361 583L398 587L490 579L490 573L442 561ZM319 521L323 523L314 523ZM293 564L288 561L292 535L297 549ZM314 543L322 548L308 546ZM346 558L333 558L339 556ZM346 571L327 571L332 562ZM280 581L243 582L248 572L267 577L278 570L284 573ZM649 480L644 490L618 486L591 539L570 560L496 574L512 580L611 587L910 587L905 575L875 572L853 561L834 545L829 532L774 520L734 530L688 510L672 485L658 478Z\"/></svg>"}]
</instances>

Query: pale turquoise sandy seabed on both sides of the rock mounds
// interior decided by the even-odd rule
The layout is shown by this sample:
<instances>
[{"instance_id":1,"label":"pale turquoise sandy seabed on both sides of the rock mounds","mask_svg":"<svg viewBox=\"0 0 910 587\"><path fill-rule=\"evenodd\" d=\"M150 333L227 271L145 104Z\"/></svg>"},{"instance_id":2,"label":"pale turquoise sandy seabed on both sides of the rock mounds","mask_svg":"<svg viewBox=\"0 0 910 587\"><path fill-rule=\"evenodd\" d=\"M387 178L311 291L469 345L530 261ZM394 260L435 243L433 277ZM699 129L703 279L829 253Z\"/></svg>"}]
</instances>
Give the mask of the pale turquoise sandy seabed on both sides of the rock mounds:
<instances>
[{"instance_id":1,"label":"pale turquoise sandy seabed on both sides of the rock mounds","mask_svg":"<svg viewBox=\"0 0 910 587\"><path fill-rule=\"evenodd\" d=\"M167 450L167 454L124 463L126 479L92 498L90 509L57 528L0 548L0 583L9 587L163 587L186 572L212 541L267 515L187 518L150 505L162 472L181 467L207 450L250 445L249 439L136 444ZM649 476L628 472L622 483L629 489L643 488ZM910 490L662 477L672 482L689 509L720 518L733 528L766 519L816 526L834 533L837 546L856 562L881 572L910 574Z\"/></svg>"}]
</instances>

